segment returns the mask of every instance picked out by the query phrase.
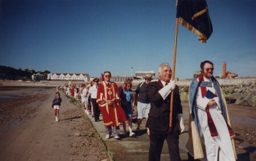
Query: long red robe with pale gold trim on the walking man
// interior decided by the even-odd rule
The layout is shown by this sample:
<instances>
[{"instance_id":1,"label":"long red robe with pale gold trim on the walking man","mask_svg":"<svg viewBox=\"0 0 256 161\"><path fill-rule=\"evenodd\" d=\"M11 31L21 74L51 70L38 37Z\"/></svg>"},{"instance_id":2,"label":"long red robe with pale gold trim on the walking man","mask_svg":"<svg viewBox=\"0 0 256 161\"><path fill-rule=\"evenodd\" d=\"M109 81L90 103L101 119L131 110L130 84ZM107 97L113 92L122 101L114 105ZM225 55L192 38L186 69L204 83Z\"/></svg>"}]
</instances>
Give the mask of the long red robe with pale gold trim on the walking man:
<instances>
[{"instance_id":1,"label":"long red robe with pale gold trim on the walking man","mask_svg":"<svg viewBox=\"0 0 256 161\"><path fill-rule=\"evenodd\" d=\"M116 98L116 101L112 105L109 105L104 102L103 98L107 100ZM100 104L102 102L104 103ZM119 102L119 90L116 83L112 82L111 84L107 84L103 81L99 84L97 103L99 104L105 126L119 126L121 122L127 122L127 118Z\"/></svg>"}]
</instances>

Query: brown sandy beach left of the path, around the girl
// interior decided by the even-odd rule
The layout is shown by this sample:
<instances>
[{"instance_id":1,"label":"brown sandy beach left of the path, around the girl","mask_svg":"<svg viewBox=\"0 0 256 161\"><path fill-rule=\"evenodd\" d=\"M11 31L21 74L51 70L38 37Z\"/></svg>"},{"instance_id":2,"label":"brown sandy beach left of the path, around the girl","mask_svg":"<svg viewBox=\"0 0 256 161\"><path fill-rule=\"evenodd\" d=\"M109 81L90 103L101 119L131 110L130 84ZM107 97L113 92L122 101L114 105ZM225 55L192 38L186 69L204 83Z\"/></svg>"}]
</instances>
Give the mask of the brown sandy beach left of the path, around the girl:
<instances>
[{"instance_id":1,"label":"brown sandy beach left of the path, around the girl","mask_svg":"<svg viewBox=\"0 0 256 161\"><path fill-rule=\"evenodd\" d=\"M51 108L55 88L2 88L0 160L108 160L80 107L63 102L60 121Z\"/></svg>"}]
</instances>

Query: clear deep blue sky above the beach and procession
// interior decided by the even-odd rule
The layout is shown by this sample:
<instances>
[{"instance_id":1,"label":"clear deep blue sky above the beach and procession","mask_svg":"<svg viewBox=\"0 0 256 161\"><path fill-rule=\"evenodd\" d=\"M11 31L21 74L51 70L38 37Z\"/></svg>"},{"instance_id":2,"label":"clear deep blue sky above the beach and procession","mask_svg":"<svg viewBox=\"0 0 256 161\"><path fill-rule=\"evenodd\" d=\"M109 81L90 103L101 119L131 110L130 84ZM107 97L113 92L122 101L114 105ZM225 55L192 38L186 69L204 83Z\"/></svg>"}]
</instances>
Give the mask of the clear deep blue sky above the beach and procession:
<instances>
[{"instance_id":1,"label":"clear deep blue sky above the beach and procession","mask_svg":"<svg viewBox=\"0 0 256 161\"><path fill-rule=\"evenodd\" d=\"M179 24L176 77L192 78L200 62L256 76L256 1L207 1L213 33L206 44ZM99 77L133 75L173 62L175 1L1 1L0 65Z\"/></svg>"}]
</instances>

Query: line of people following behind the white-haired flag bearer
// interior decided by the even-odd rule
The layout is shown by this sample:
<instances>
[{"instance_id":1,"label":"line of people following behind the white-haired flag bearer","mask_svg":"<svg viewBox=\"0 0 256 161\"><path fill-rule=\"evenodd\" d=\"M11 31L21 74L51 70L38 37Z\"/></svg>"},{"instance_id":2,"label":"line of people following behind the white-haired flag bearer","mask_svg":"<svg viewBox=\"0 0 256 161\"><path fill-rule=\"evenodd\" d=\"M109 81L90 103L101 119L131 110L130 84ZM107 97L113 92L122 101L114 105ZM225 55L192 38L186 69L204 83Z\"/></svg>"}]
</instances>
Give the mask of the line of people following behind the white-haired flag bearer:
<instances>
[{"instance_id":1,"label":"line of people following behind the white-haired flag bearer","mask_svg":"<svg viewBox=\"0 0 256 161\"><path fill-rule=\"evenodd\" d=\"M143 118L148 118L150 103L147 98L147 85L151 82L152 76L146 75L145 82L139 84L135 91L132 91L132 81L129 79L120 87L117 87L117 84L111 82L110 79L111 73L106 71L101 81L95 78L88 83L67 84L57 88L57 91L62 90L66 95L79 100L84 105L87 115L92 115L95 122L100 121L101 113L106 127L106 139L111 137L112 132L114 138L119 139L120 125L123 126L124 136L135 137L135 133L132 132L132 117L137 113L137 122L139 122L137 130L140 130L141 121ZM112 103L110 101L106 105L109 99L113 99ZM137 111L134 109L135 105L137 105ZM129 133L127 133L127 125Z\"/></svg>"}]
</instances>

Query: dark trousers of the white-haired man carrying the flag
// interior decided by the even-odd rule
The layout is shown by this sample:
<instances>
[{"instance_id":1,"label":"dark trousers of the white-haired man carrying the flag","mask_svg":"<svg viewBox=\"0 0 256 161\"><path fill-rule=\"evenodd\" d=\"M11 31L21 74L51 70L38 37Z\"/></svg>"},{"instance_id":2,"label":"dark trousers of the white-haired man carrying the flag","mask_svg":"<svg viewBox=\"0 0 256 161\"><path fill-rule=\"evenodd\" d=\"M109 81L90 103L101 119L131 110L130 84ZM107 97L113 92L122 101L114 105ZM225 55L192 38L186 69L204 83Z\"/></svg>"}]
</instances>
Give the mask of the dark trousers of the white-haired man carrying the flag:
<instances>
[{"instance_id":1,"label":"dark trousers of the white-haired man carrying the flag","mask_svg":"<svg viewBox=\"0 0 256 161\"><path fill-rule=\"evenodd\" d=\"M162 146L166 139L169 149L170 160L180 161L180 150L178 149L178 137L180 135L180 128L178 122L174 124L172 132L155 132L150 130L150 147L149 147L149 161L160 160Z\"/></svg>"}]
</instances>

